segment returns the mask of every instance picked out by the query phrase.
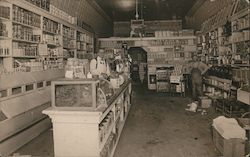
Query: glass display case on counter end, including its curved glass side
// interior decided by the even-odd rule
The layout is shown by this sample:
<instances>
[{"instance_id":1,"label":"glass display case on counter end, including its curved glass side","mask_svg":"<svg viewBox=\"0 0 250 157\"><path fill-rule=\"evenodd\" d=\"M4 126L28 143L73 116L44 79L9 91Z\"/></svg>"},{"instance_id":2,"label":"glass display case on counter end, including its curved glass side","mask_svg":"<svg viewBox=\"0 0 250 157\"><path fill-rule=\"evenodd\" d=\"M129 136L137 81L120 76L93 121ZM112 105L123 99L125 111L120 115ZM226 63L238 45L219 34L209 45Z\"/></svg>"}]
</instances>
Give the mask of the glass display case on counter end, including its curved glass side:
<instances>
[{"instance_id":1,"label":"glass display case on counter end, including its curved glass side","mask_svg":"<svg viewBox=\"0 0 250 157\"><path fill-rule=\"evenodd\" d=\"M52 107L96 109L108 106L115 91L109 81L60 79L52 81Z\"/></svg>"}]
</instances>

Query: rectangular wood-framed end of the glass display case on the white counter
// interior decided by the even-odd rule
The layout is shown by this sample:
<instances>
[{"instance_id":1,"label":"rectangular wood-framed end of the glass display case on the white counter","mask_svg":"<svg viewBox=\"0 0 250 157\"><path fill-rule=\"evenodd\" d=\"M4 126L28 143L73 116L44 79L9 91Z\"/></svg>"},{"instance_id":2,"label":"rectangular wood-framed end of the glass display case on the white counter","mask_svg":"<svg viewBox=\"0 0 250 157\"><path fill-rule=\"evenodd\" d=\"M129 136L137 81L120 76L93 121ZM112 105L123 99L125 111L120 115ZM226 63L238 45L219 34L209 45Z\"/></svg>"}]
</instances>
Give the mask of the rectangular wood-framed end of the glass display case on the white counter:
<instances>
[{"instance_id":1,"label":"rectangular wood-framed end of the glass display case on the white counter","mask_svg":"<svg viewBox=\"0 0 250 157\"><path fill-rule=\"evenodd\" d=\"M60 79L52 81L52 107L89 108L98 107L98 79Z\"/></svg>"}]
</instances>

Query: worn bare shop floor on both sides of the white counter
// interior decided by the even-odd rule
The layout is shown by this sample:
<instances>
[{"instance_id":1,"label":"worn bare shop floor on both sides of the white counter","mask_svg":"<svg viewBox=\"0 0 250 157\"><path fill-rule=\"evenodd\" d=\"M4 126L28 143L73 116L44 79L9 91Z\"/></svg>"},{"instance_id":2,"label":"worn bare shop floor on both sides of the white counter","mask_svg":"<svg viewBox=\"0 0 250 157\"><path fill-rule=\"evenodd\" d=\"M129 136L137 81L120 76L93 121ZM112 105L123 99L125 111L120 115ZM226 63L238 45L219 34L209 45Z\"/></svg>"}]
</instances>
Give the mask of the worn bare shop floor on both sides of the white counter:
<instances>
[{"instance_id":1,"label":"worn bare shop floor on both sides of the white counter","mask_svg":"<svg viewBox=\"0 0 250 157\"><path fill-rule=\"evenodd\" d=\"M213 110L185 111L189 98L133 90L132 108L115 157L219 157L211 137ZM17 151L23 155L53 156L53 135L48 130Z\"/></svg>"}]
</instances>

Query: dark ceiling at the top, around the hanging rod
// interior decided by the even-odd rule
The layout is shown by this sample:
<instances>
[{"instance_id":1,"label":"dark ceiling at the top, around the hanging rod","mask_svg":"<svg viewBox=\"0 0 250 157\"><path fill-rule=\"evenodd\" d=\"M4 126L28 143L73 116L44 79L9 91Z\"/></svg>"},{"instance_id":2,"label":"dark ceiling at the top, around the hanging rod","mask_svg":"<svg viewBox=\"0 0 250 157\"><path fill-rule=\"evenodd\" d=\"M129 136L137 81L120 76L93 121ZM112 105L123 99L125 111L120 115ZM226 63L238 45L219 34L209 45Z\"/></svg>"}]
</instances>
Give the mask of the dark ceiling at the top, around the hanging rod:
<instances>
[{"instance_id":1,"label":"dark ceiling at the top, around the hanging rod","mask_svg":"<svg viewBox=\"0 0 250 157\"><path fill-rule=\"evenodd\" d=\"M114 21L135 19L136 0L95 0ZM197 0L138 0L140 18L184 19Z\"/></svg>"}]
</instances>

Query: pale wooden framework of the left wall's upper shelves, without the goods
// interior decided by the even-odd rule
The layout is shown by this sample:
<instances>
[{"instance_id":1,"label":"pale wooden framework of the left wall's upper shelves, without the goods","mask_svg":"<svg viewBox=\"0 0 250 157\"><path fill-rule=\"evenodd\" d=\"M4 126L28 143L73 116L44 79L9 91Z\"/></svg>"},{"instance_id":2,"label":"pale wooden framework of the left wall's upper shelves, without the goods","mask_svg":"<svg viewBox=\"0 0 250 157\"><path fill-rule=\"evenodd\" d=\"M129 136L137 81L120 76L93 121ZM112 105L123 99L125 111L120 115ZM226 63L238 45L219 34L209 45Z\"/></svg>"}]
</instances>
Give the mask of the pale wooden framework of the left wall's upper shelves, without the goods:
<instances>
[{"instance_id":1,"label":"pale wooden framework of the left wall's upper shelves, without the goods","mask_svg":"<svg viewBox=\"0 0 250 157\"><path fill-rule=\"evenodd\" d=\"M71 24L64 19L61 19L60 17L56 17L56 16L50 14L48 11L29 3L28 1L25 1L25 0L5 0L4 4L5 3L6 3L6 6L8 6L10 8L10 19L0 17L0 20L3 22L8 21L8 23L6 22L6 26L7 26L8 32L10 32L10 37L0 37L0 40L10 40L10 51L13 51L12 50L13 46L11 46L12 45L11 42L12 43L19 42L19 44L27 43L27 45L37 44L37 48L39 48L39 51L40 50L43 51L44 54L46 54L46 52L45 52L46 48L61 48L61 49L64 48L67 50L72 50L72 51L74 50L74 57L77 56L76 55L76 53L77 53L76 47L70 48L70 47L67 47L67 45L63 46L62 43L60 45L58 45L58 44L53 43L53 42L46 43L46 42L41 42L41 41L30 41L30 40L14 38L14 36L12 37L12 33L11 33L13 31L12 30L13 25L20 25L20 26L23 26L24 28L27 27L27 29L33 30L34 35L38 35L41 38L43 37L43 35L44 36L48 35L48 36L52 36L52 37L58 36L59 41L61 41L62 39L65 39L65 40L67 39L67 40L70 40L72 42L72 44L77 44L76 43L77 42L77 39L76 39L77 32L83 33L86 36L91 37L91 39L93 40L93 32L92 31L85 30L83 28L78 27L76 24ZM37 26L33 26L32 23L27 24L26 21L25 21L26 23L23 23L24 21L14 20L14 18L13 18L14 13L13 13L13 9L12 9L13 6L17 6L19 8L22 8L24 10L27 10L31 13L36 14L38 16L37 20L39 21L39 25L36 24ZM57 25L58 32L53 32L54 29L50 29L51 27L43 27L43 22L44 22L44 20L47 20L47 19L58 23L58 25ZM59 30L59 26L60 26L60 30ZM74 32L75 36L69 37L67 35L66 36L63 35L63 31L62 31L63 26L70 28L72 33ZM39 43L42 43L44 45L38 45ZM13 52L10 52L10 54L13 54ZM3 57L7 57L7 56L3 56ZM1 58L3 58L3 57L1 56ZM4 62L3 62L4 67L7 69L8 72L13 72L14 71L14 67L12 66L13 59L11 59L11 57L13 57L13 58L14 57L16 57L16 58L36 58L39 56L11 56L11 55L9 55L8 57L10 57L10 58L3 59L4 60Z\"/></svg>"}]
</instances>

